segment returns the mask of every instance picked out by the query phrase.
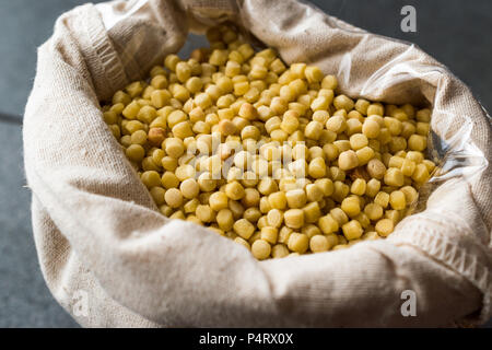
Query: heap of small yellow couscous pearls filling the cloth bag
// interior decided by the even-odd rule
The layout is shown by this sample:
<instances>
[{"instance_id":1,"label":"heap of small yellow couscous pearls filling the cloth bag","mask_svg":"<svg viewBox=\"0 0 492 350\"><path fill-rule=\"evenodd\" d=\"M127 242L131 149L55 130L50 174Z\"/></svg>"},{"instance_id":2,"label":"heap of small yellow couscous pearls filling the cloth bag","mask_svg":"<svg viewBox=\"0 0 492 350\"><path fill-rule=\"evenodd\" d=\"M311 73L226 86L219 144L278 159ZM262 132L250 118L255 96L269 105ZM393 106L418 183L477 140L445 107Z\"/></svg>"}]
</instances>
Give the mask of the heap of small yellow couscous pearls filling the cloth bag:
<instances>
[{"instance_id":1,"label":"heap of small yellow couscous pearls filling the cloth bag","mask_svg":"<svg viewBox=\"0 0 492 350\"><path fill-rule=\"evenodd\" d=\"M103 107L161 212L257 259L391 234L435 168L431 110L337 94L336 77L255 51L231 26L207 37Z\"/></svg>"}]
</instances>

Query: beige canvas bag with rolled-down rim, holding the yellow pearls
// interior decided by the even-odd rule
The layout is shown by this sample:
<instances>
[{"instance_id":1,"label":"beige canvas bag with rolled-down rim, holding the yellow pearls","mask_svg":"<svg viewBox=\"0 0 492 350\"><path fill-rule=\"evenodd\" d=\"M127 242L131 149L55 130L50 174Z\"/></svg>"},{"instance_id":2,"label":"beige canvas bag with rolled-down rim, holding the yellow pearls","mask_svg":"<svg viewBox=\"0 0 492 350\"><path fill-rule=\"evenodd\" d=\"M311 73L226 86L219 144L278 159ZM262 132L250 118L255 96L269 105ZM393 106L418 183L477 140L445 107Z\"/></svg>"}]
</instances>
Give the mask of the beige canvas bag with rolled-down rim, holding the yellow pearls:
<instances>
[{"instance_id":1,"label":"beige canvas bag with rolled-down rim, holding the yellow pearls","mask_svg":"<svg viewBox=\"0 0 492 350\"><path fill-rule=\"evenodd\" d=\"M144 78L183 46L189 30L224 19L276 47L286 62L339 74L351 96L431 102L433 131L453 156L467 160L468 172L454 168L427 209L403 220L390 238L329 254L258 262L204 228L164 218L105 126L98 102ZM483 322L492 292L491 135L470 91L419 48L292 0L86 4L63 14L39 48L25 112L43 273L86 327ZM415 317L401 315L405 290L415 292Z\"/></svg>"}]
</instances>

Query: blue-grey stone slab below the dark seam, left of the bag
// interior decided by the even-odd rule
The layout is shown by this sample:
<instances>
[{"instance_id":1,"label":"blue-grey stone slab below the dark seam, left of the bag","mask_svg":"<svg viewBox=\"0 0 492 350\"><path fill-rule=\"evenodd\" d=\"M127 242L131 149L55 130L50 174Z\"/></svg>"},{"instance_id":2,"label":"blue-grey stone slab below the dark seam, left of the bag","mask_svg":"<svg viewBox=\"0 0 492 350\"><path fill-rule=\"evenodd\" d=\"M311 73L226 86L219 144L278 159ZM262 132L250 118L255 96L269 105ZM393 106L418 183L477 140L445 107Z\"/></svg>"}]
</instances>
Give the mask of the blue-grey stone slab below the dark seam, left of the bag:
<instances>
[{"instance_id":1,"label":"blue-grey stone slab below the dark seam, left of the bag","mask_svg":"<svg viewBox=\"0 0 492 350\"><path fill-rule=\"evenodd\" d=\"M0 327L75 327L39 270L22 164L21 127L0 122Z\"/></svg>"}]
</instances>

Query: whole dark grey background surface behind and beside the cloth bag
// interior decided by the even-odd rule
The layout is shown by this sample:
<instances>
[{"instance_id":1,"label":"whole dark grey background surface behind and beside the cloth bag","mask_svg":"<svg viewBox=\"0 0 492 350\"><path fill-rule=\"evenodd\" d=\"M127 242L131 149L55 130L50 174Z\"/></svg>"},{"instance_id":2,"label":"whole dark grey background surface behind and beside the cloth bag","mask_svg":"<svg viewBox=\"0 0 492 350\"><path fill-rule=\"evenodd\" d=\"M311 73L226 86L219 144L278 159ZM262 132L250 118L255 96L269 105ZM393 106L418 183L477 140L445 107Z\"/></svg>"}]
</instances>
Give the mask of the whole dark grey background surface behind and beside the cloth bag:
<instances>
[{"instance_id":1,"label":"whole dark grey background surface behind and beside the cloth bag","mask_svg":"<svg viewBox=\"0 0 492 350\"><path fill-rule=\"evenodd\" d=\"M96 1L97 2L97 1ZM22 164L22 114L33 83L36 47L56 18L80 0L0 0L0 327L77 327L54 301L36 259L30 192ZM327 0L320 9L364 30L413 42L465 81L492 107L490 0ZM412 4L418 33L400 31Z\"/></svg>"}]
</instances>

